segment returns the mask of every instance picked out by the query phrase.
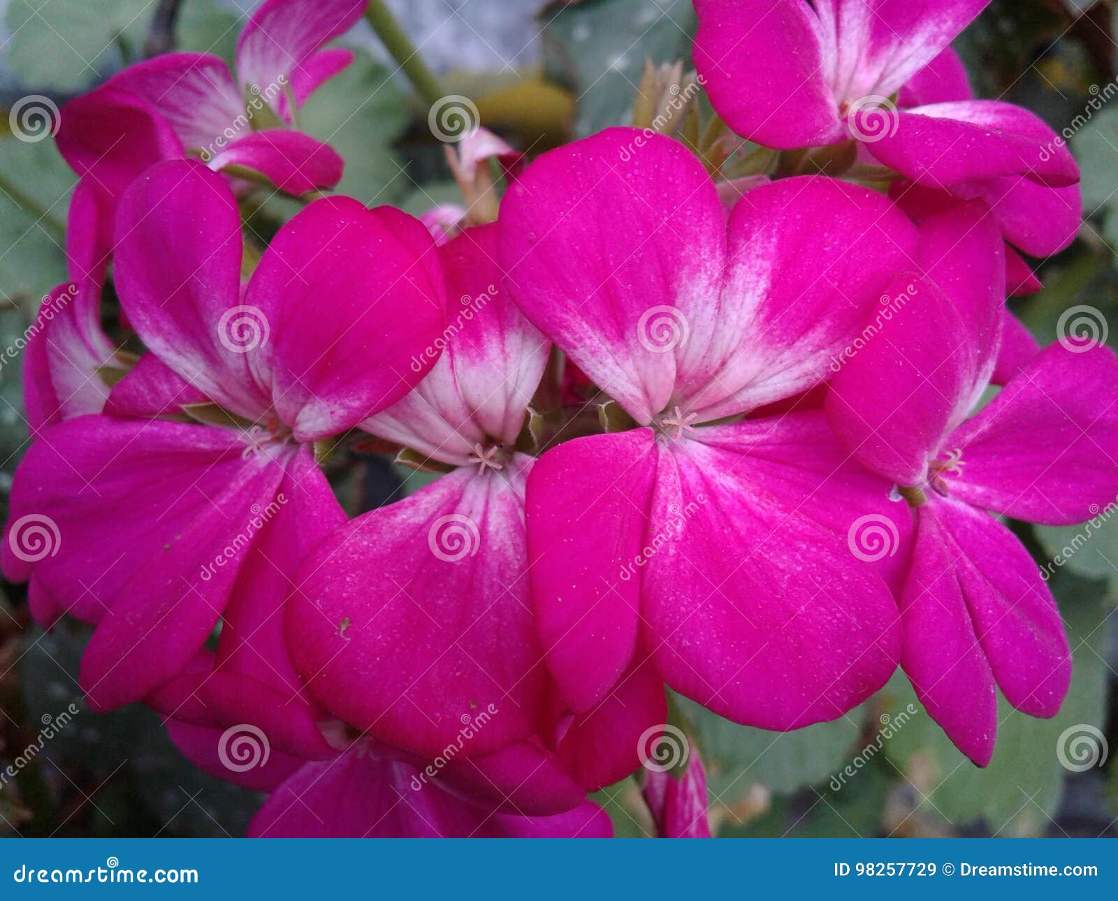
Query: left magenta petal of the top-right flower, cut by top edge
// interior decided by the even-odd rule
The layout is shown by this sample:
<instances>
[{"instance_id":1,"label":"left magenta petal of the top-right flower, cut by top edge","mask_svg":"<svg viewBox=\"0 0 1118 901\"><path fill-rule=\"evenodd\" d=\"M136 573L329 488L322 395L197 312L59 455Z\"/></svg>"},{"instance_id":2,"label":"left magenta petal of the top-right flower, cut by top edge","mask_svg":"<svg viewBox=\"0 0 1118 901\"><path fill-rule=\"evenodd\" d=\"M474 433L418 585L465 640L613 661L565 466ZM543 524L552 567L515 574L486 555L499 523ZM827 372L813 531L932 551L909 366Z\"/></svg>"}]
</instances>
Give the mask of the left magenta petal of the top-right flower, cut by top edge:
<instances>
[{"instance_id":1,"label":"left magenta petal of the top-right flower, cut by top edge","mask_svg":"<svg viewBox=\"0 0 1118 901\"><path fill-rule=\"evenodd\" d=\"M780 150L841 141L819 27L804 0L695 0L694 61L738 134Z\"/></svg>"}]
</instances>

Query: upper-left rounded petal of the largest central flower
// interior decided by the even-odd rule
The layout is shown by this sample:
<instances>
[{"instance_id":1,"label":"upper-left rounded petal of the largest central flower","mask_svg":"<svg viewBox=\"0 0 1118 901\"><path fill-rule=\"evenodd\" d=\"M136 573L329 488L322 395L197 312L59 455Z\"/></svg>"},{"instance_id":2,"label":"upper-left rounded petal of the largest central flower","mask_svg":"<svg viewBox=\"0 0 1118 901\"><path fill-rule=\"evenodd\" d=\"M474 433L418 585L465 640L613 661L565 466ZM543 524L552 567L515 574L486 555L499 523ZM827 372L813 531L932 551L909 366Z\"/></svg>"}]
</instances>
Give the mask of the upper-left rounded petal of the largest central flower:
<instances>
[{"instance_id":1,"label":"upper-left rounded petal of the largest central flower","mask_svg":"<svg viewBox=\"0 0 1118 901\"><path fill-rule=\"evenodd\" d=\"M718 293L722 221L685 146L609 129L543 154L509 190L501 264L528 319L647 424L671 397L690 311Z\"/></svg>"}]
</instances>

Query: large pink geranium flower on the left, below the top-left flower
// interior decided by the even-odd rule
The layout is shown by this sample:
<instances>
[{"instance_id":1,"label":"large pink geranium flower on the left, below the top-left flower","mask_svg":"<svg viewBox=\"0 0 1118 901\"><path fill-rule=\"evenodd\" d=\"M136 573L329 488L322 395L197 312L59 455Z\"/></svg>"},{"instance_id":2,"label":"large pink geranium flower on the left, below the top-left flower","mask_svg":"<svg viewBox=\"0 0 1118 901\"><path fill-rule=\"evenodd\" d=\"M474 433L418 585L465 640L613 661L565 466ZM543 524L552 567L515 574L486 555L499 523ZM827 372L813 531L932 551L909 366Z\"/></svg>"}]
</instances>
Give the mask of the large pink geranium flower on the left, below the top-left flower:
<instances>
[{"instance_id":1,"label":"large pink geranium flower on the left, below the top-left flower","mask_svg":"<svg viewBox=\"0 0 1118 901\"><path fill-rule=\"evenodd\" d=\"M314 443L407 393L433 362L411 359L445 316L429 235L390 208L312 203L244 293L237 205L201 163L150 169L117 225L116 290L149 353L114 388L111 416L40 433L4 547L41 609L97 624L82 682L98 709L178 675L235 590L227 627L255 605L280 608L276 586L249 575L250 551L280 542L255 566L290 571L311 533L276 523L337 522ZM221 425L171 420L184 410ZM53 554L28 561L21 520L51 524Z\"/></svg>"}]
</instances>

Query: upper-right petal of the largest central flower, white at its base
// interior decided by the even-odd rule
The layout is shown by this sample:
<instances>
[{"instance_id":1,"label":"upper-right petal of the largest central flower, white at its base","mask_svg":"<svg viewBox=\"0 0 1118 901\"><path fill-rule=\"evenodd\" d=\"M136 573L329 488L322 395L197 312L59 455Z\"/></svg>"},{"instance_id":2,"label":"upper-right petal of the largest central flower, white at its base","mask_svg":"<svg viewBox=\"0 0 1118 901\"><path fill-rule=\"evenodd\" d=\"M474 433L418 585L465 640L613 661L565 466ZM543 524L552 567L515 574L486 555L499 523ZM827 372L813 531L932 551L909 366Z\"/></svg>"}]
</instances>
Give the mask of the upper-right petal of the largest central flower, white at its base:
<instances>
[{"instance_id":1,"label":"upper-right petal of the largest central flower, white at its base","mask_svg":"<svg viewBox=\"0 0 1118 901\"><path fill-rule=\"evenodd\" d=\"M893 274L911 265L916 233L880 195L833 179L783 179L735 207L729 253L718 303L692 295L679 304L690 338L676 353L678 391L699 421L823 381Z\"/></svg>"}]
</instances>

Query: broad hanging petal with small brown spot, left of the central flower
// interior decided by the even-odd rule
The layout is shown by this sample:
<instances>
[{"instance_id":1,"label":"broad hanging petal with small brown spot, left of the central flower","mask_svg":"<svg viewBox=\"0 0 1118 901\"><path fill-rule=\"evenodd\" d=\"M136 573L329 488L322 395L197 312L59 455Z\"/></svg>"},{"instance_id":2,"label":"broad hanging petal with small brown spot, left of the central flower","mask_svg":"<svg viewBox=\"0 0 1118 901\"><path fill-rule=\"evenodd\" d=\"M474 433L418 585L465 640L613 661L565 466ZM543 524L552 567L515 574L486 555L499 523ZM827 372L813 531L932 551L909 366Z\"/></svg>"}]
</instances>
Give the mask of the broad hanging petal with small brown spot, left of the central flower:
<instances>
[{"instance_id":1,"label":"broad hanging petal with small brown spot, left of the central flower","mask_svg":"<svg viewBox=\"0 0 1118 901\"><path fill-rule=\"evenodd\" d=\"M430 757L458 743L485 755L536 732L546 673L525 572L530 463L443 476L306 559L287 644L324 708Z\"/></svg>"}]
</instances>

